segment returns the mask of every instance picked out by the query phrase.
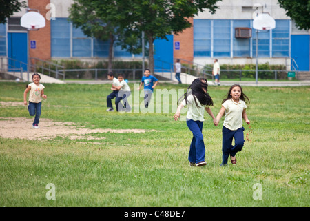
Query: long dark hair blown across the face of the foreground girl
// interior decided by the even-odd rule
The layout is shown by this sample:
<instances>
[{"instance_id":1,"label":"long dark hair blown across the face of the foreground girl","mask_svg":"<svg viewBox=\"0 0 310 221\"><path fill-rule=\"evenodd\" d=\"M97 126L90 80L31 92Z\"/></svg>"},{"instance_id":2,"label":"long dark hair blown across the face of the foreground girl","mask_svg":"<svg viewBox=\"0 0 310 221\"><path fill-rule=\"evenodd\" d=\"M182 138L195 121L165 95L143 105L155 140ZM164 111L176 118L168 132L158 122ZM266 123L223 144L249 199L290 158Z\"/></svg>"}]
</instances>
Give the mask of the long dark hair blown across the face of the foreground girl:
<instances>
[{"instance_id":1,"label":"long dark hair blown across the face of the foreground girl","mask_svg":"<svg viewBox=\"0 0 310 221\"><path fill-rule=\"evenodd\" d=\"M200 104L207 105L207 106L213 106L213 100L210 97L208 91L208 84L207 84L207 79L205 78L197 78L194 79L192 84L187 88L187 93L182 95L180 99L178 99L178 104L181 100L185 99L185 103L187 104L187 97L189 95L193 95L194 101L196 106L198 106L198 103L196 101L196 98L200 102ZM205 88L205 91L203 90Z\"/></svg>"}]
</instances>

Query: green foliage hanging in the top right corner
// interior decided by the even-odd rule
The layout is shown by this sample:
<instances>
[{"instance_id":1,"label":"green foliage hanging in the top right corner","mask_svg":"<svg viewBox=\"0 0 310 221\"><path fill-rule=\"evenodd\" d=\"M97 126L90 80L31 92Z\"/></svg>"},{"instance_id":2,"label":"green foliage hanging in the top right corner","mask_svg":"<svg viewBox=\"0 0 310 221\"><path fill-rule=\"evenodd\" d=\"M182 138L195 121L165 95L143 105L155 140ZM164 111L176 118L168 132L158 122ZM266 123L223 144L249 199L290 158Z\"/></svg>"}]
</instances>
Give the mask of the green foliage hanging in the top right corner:
<instances>
[{"instance_id":1,"label":"green foliage hanging in the top right corner","mask_svg":"<svg viewBox=\"0 0 310 221\"><path fill-rule=\"evenodd\" d=\"M310 29L310 0L278 0L278 3L299 29Z\"/></svg>"}]
</instances>

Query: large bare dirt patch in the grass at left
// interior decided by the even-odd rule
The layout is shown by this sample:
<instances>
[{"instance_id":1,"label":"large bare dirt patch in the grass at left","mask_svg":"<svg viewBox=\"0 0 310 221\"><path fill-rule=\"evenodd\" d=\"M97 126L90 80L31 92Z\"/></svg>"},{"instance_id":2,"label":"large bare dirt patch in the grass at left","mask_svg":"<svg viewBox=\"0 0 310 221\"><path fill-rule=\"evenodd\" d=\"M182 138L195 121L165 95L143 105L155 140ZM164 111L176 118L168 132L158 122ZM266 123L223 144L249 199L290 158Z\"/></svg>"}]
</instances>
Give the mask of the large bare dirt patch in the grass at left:
<instances>
[{"instance_id":1,"label":"large bare dirt patch in the grass at left","mask_svg":"<svg viewBox=\"0 0 310 221\"><path fill-rule=\"evenodd\" d=\"M25 117L5 118L0 117L0 137L20 138L28 140L45 140L54 137L70 137L76 139L79 135L91 133L145 133L155 130L142 129L89 129L79 127L73 122L54 122L50 119L40 119L39 129L32 128L33 119ZM94 137L87 136L87 140ZM105 139L104 137L99 139Z\"/></svg>"}]
</instances>

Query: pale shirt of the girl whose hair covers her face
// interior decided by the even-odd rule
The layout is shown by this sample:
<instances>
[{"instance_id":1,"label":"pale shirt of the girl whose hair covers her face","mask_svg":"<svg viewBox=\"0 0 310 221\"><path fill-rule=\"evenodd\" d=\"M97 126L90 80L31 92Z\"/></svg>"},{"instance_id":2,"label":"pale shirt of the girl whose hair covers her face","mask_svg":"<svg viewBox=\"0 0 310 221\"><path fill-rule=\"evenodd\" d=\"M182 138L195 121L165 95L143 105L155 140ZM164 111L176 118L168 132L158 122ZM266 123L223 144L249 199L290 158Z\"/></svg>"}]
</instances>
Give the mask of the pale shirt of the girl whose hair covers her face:
<instances>
[{"instance_id":1,"label":"pale shirt of the girl whose hair covers her face","mask_svg":"<svg viewBox=\"0 0 310 221\"><path fill-rule=\"evenodd\" d=\"M184 106L186 105L188 106L188 111L186 115L187 119L192 119L194 121L198 120L200 122L203 122L205 121L205 118L203 117L205 113L205 105L200 104L197 97L195 98L196 98L198 106L196 106L193 95L189 95L187 97L187 104L185 103L185 99L181 102L181 104L183 104Z\"/></svg>"}]
</instances>

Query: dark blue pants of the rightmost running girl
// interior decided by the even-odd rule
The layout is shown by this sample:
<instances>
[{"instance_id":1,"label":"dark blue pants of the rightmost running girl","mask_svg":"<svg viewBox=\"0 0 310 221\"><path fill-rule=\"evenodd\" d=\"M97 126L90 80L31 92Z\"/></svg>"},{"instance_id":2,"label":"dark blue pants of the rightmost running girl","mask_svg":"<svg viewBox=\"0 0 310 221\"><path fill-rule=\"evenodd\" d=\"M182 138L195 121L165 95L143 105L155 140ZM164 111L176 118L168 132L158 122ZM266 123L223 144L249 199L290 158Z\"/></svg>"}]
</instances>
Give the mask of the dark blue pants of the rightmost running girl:
<instances>
[{"instance_id":1,"label":"dark blue pants of the rightmost running girl","mask_svg":"<svg viewBox=\"0 0 310 221\"><path fill-rule=\"evenodd\" d=\"M223 134L223 143L222 143L222 164L227 164L227 160L229 155L234 157L237 152L242 151L243 144L245 144L245 139L243 137L243 131L245 128L238 128L236 131L231 131L225 126L223 126L222 134ZM232 140L235 139L235 146L232 146Z\"/></svg>"}]
</instances>

